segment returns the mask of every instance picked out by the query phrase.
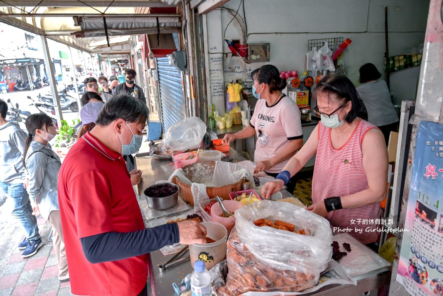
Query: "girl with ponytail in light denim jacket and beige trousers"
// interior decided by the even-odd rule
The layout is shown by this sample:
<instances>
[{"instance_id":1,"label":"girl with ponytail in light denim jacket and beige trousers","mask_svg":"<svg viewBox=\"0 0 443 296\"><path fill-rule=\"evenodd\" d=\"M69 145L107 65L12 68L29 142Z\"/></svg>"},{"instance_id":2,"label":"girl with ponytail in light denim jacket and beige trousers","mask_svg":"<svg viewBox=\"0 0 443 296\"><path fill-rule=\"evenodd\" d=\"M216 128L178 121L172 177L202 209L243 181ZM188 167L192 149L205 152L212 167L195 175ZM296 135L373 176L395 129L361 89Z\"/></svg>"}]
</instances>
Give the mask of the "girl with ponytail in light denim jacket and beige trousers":
<instances>
[{"instance_id":1,"label":"girl with ponytail in light denim jacket and beige trousers","mask_svg":"<svg viewBox=\"0 0 443 296\"><path fill-rule=\"evenodd\" d=\"M31 114L26 118L28 136L25 142L23 164L28 172L29 185L26 190L31 200L32 214L41 214L52 225L52 240L59 267L59 281L69 281L65 241L60 222L57 181L60 158L51 149L48 141L57 134L51 117L46 114Z\"/></svg>"}]
</instances>

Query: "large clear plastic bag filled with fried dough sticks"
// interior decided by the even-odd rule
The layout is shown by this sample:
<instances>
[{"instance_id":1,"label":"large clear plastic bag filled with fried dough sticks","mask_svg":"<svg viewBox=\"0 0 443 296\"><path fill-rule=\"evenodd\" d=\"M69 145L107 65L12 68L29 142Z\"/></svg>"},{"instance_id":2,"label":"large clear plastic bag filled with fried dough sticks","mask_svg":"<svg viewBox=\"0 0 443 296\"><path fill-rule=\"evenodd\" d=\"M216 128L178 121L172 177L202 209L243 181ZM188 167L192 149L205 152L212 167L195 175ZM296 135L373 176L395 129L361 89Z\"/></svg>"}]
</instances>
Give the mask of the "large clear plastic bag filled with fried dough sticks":
<instances>
[{"instance_id":1,"label":"large clear plastic bag filled with fried dough sticks","mask_svg":"<svg viewBox=\"0 0 443 296\"><path fill-rule=\"evenodd\" d=\"M235 218L227 244L228 277L218 295L298 292L317 284L332 256L328 220L271 200L244 206ZM278 229L280 224L287 227Z\"/></svg>"}]
</instances>

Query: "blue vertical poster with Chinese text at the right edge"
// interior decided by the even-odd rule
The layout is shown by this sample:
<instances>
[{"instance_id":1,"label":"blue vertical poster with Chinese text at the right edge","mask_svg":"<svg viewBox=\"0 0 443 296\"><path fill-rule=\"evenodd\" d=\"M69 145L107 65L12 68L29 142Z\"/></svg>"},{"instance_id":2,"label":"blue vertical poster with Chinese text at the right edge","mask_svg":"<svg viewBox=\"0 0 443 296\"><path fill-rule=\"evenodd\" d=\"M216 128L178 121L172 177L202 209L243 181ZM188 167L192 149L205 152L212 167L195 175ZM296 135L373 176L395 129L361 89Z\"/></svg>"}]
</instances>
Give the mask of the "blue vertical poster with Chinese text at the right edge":
<instances>
[{"instance_id":1,"label":"blue vertical poster with Chinese text at the right edge","mask_svg":"<svg viewBox=\"0 0 443 296\"><path fill-rule=\"evenodd\" d=\"M420 122L397 281L412 295L443 296L443 125Z\"/></svg>"}]
</instances>

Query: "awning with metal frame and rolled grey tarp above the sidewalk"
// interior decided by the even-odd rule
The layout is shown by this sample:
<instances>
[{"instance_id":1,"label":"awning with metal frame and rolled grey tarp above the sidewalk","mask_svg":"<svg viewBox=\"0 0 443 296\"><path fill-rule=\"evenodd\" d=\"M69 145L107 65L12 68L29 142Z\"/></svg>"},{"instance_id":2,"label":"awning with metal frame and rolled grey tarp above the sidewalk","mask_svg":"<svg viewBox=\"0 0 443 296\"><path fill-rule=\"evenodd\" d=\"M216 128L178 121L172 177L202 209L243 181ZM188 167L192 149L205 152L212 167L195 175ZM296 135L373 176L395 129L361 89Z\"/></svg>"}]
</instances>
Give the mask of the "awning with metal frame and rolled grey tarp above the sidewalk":
<instances>
[{"instance_id":1,"label":"awning with metal frame and rolled grey tarp above the sidewalk","mask_svg":"<svg viewBox=\"0 0 443 296\"><path fill-rule=\"evenodd\" d=\"M94 47L106 35L112 45L129 35L179 32L181 27L177 13L150 13L153 7L177 8L160 0L44 0L40 3L45 6L33 6L35 2L14 0L15 6L7 6L0 1L0 21L90 53L106 52Z\"/></svg>"}]
</instances>

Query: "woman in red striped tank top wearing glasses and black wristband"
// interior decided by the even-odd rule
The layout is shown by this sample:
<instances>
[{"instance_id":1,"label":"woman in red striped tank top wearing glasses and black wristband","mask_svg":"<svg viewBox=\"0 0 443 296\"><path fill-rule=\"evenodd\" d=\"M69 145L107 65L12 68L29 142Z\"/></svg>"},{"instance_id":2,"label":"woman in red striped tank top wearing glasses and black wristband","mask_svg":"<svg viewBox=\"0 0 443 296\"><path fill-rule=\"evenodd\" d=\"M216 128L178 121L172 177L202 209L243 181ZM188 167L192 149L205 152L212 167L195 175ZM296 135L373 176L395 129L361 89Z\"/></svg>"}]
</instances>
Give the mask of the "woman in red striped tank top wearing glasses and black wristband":
<instances>
[{"instance_id":1,"label":"woman in red striped tank top wearing glasses and black wristband","mask_svg":"<svg viewBox=\"0 0 443 296\"><path fill-rule=\"evenodd\" d=\"M268 198L282 189L316 155L312 201L307 207L329 220L333 230L345 231L374 247L380 204L386 194L388 155L382 132L357 117L360 99L344 75L326 76L315 89L321 117L308 141L278 174L265 184Z\"/></svg>"}]
</instances>

